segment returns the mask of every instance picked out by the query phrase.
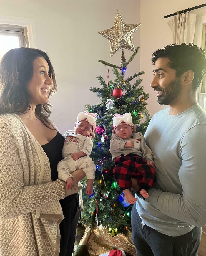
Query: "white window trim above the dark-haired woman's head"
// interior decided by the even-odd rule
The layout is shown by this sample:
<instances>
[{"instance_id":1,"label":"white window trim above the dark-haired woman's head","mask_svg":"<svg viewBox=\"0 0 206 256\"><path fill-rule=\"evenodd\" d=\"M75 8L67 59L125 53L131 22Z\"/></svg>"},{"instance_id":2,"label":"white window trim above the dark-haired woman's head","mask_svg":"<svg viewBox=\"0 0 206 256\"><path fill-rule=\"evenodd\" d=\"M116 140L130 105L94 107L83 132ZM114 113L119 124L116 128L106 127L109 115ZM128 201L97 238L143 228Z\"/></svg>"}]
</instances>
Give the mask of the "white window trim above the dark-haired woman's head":
<instances>
[{"instance_id":1,"label":"white window trim above the dark-haired woman's head","mask_svg":"<svg viewBox=\"0 0 206 256\"><path fill-rule=\"evenodd\" d=\"M30 48L37 47L34 19L0 15L0 24L9 24L9 25L18 25L22 27L27 27L29 47Z\"/></svg>"}]
</instances>

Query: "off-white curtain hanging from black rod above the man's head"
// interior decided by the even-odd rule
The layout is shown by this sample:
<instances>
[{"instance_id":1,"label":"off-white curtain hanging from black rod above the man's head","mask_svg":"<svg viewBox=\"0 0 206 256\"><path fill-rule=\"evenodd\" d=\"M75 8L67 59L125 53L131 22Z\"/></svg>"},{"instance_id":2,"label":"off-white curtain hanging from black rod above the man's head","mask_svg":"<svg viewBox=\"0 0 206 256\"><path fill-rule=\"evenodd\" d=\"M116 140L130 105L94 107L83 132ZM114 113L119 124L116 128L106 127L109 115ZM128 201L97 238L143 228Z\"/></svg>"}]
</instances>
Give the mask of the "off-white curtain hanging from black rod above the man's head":
<instances>
[{"instance_id":1,"label":"off-white curtain hanging from black rod above the man's head","mask_svg":"<svg viewBox=\"0 0 206 256\"><path fill-rule=\"evenodd\" d=\"M172 31L172 43L192 43L195 34L196 13L178 14L167 24Z\"/></svg>"}]
</instances>

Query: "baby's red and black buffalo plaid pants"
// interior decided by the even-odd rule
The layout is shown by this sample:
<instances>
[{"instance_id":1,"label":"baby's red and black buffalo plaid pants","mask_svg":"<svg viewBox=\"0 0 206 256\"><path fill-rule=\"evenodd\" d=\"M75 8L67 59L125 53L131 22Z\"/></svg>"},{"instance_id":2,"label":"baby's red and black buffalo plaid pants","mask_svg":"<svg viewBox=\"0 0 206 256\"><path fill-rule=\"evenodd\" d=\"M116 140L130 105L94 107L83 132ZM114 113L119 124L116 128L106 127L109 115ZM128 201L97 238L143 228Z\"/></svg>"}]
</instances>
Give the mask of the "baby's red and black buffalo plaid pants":
<instances>
[{"instance_id":1,"label":"baby's red and black buffalo plaid pants","mask_svg":"<svg viewBox=\"0 0 206 256\"><path fill-rule=\"evenodd\" d=\"M151 188L156 180L155 169L147 165L141 156L135 154L116 158L113 175L121 189L132 187L132 177L139 181L139 190Z\"/></svg>"}]
</instances>

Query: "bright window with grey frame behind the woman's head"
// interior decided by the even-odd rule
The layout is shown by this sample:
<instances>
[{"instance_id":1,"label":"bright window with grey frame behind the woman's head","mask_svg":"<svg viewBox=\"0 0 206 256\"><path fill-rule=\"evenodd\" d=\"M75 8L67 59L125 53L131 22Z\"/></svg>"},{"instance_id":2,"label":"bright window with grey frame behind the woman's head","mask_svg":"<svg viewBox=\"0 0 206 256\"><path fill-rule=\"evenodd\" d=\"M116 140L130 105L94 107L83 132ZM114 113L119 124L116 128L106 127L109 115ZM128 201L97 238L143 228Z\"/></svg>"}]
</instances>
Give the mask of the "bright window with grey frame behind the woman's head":
<instances>
[{"instance_id":1,"label":"bright window with grey frame behind the woman's head","mask_svg":"<svg viewBox=\"0 0 206 256\"><path fill-rule=\"evenodd\" d=\"M26 27L0 24L0 59L9 50L28 45Z\"/></svg>"}]
</instances>

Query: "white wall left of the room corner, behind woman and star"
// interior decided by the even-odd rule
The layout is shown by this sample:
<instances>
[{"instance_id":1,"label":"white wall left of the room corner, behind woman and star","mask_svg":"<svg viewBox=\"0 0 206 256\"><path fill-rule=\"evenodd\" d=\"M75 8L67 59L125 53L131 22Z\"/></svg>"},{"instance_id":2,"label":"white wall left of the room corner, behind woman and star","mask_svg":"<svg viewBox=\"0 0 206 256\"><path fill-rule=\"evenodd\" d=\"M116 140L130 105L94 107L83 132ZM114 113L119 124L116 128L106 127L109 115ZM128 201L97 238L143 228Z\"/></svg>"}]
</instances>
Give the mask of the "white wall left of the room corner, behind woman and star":
<instances>
[{"instance_id":1,"label":"white wall left of the room corner, behind woman and star","mask_svg":"<svg viewBox=\"0 0 206 256\"><path fill-rule=\"evenodd\" d=\"M140 23L140 3L136 0L129 0L129 4L125 0L1 0L0 20L4 16L34 19L34 47L49 54L57 78L51 117L62 133L74 127L85 104L100 101L89 91L89 87L99 87L98 75L107 80L107 67L98 59L120 64L121 50L110 58L109 40L98 34L113 26L117 9L126 23ZM140 29L134 33L133 42L135 47L140 44ZM131 54L125 49L127 59ZM140 54L132 63L128 76L139 71Z\"/></svg>"}]
</instances>

